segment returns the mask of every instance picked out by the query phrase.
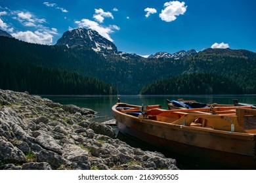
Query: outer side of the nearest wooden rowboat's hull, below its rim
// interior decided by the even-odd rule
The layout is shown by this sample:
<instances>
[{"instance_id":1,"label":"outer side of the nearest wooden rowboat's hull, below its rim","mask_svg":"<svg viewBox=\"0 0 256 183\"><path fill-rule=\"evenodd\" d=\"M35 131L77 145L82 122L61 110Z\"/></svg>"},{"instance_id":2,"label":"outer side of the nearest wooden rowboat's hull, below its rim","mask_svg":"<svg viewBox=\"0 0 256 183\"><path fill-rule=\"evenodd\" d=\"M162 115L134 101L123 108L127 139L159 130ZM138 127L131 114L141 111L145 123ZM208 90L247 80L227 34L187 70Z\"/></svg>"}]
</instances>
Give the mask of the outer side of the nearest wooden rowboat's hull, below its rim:
<instances>
[{"instance_id":1,"label":"outer side of the nearest wooden rowboat's hull, below its rim","mask_svg":"<svg viewBox=\"0 0 256 183\"><path fill-rule=\"evenodd\" d=\"M255 136L144 120L114 111L119 131L170 152L237 169L256 169Z\"/></svg>"}]
</instances>

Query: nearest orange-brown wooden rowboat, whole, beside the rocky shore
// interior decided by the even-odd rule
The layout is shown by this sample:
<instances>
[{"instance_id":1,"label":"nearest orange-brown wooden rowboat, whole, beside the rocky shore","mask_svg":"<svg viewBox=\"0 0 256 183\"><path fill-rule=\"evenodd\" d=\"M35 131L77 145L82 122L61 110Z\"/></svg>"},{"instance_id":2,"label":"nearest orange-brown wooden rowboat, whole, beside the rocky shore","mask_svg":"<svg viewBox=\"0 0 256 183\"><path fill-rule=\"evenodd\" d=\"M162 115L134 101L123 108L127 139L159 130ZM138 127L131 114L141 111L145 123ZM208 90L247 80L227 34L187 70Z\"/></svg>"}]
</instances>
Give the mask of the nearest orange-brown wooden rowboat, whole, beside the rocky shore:
<instances>
[{"instance_id":1,"label":"nearest orange-brown wooden rowboat, whole, beside the rocky shore","mask_svg":"<svg viewBox=\"0 0 256 183\"><path fill-rule=\"evenodd\" d=\"M251 106L165 110L117 103L119 131L177 154L256 169L256 110Z\"/></svg>"}]
</instances>

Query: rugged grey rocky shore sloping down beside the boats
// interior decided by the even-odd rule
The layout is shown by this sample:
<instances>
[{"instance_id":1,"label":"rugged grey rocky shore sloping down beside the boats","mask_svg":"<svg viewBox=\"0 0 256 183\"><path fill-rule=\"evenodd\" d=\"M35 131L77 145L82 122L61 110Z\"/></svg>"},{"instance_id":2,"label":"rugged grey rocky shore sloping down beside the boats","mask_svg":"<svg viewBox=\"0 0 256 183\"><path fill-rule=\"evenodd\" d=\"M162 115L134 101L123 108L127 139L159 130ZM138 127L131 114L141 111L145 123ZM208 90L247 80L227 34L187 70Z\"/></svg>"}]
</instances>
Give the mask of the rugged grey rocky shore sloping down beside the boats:
<instances>
[{"instance_id":1,"label":"rugged grey rocky shore sloping down beside the boats","mask_svg":"<svg viewBox=\"0 0 256 183\"><path fill-rule=\"evenodd\" d=\"M96 112L0 90L0 169L178 169L175 159L115 138Z\"/></svg>"}]
</instances>

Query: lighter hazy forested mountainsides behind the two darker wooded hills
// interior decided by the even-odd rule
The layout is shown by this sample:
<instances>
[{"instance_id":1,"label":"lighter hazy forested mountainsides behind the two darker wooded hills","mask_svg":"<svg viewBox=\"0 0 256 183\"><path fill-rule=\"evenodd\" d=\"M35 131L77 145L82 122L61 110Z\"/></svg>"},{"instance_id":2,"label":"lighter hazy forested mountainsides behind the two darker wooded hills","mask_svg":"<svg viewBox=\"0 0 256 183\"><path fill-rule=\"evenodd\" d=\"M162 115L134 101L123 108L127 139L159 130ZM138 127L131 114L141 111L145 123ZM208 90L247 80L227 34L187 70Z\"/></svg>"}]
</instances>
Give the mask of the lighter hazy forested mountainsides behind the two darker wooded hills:
<instances>
[{"instance_id":1,"label":"lighter hazy forested mountainsides behind the two darker wooded hills","mask_svg":"<svg viewBox=\"0 0 256 183\"><path fill-rule=\"evenodd\" d=\"M108 84L109 86L106 86L106 88L111 87L111 90L106 93L139 94L142 93L143 87L156 81L171 80L176 76L178 78L185 75L186 77L193 76L190 75L193 73L195 75L196 73L211 73L210 75L214 75L214 78L223 79L226 84L234 84L236 88L240 88L240 93L256 93L256 53L247 50L209 48L198 52L194 56L182 59L145 59L139 57L118 59L115 57L104 58L93 50L75 50L66 46L31 44L7 37L0 37L0 42L1 64L9 64L9 67L14 68L15 65L20 64L24 67L24 70L26 70L26 67L28 70L33 70L29 69L29 67L32 67L29 64L33 63L33 67L37 66L37 69L40 67L47 68L49 72L52 72L51 69L54 71L57 69L60 73L76 73L72 75L96 78L98 81ZM9 77L16 77L14 74L12 75ZM175 79L178 79L177 77ZM68 82L68 78L62 78L66 80L62 83ZM1 76L1 80L5 80L3 76ZM41 82L44 82L43 80ZM186 80L190 82L194 78L187 78ZM80 83L77 84L77 81L73 83L74 86L80 85ZM16 84L14 86L16 87ZM22 84L18 83L18 86L20 87ZM175 87L179 88L179 86ZM107 90L106 88L104 90ZM178 88L175 90L181 92L181 86L180 90ZM48 89L41 89L37 92L44 93L45 90ZM68 89L59 91L66 90ZM231 90L231 93L234 92L236 90ZM52 93L56 92L52 91ZM63 92L58 94L61 93ZM77 92L72 94L75 93Z\"/></svg>"}]
</instances>

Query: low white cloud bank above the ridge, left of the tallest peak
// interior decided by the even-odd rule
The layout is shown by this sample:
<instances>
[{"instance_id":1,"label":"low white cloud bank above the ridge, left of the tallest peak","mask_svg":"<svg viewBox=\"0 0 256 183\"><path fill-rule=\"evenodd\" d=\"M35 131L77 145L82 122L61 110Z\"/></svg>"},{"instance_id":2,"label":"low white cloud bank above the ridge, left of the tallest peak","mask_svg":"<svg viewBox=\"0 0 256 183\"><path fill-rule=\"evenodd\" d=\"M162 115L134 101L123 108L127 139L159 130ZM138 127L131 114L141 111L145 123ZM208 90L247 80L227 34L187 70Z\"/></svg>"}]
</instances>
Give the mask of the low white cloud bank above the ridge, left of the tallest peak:
<instances>
[{"instance_id":1,"label":"low white cloud bank above the ridge, left of the tallest peak","mask_svg":"<svg viewBox=\"0 0 256 183\"><path fill-rule=\"evenodd\" d=\"M20 39L26 42L39 43L39 44L51 44L53 43L53 35L48 33L47 31L20 31L17 33L12 33L12 37L16 39Z\"/></svg>"}]
</instances>

